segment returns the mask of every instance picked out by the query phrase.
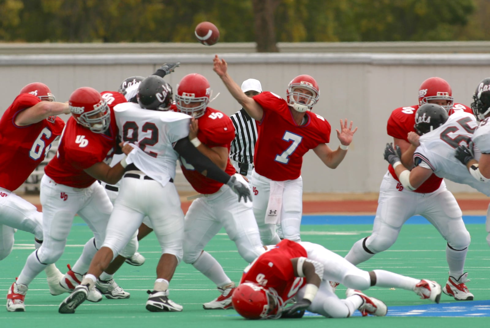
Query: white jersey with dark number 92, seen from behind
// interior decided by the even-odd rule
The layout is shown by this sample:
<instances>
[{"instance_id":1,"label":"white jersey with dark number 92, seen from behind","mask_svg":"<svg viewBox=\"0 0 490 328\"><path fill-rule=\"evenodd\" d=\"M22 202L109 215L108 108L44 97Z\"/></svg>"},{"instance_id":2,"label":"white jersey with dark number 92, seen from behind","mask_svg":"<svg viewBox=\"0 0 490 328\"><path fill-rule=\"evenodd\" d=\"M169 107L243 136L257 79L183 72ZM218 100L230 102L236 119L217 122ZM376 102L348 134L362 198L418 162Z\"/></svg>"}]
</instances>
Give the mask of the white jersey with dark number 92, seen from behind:
<instances>
[{"instance_id":1,"label":"white jersey with dark number 92, seen from behind","mask_svg":"<svg viewBox=\"0 0 490 328\"><path fill-rule=\"evenodd\" d=\"M135 145L126 162L165 187L175 178L178 155L172 143L189 135L191 117L143 109L131 102L116 105L114 114L121 140Z\"/></svg>"}]
</instances>

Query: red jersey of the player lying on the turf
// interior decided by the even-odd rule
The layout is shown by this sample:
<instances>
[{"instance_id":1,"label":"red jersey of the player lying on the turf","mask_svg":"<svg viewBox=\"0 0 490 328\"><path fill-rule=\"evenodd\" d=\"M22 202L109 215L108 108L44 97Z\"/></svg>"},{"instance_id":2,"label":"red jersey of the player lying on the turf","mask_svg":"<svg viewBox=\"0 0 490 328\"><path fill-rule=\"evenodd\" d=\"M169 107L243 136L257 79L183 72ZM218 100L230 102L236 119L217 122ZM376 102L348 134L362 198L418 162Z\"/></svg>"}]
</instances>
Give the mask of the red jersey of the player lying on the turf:
<instances>
[{"instance_id":1,"label":"red jersey of the player lying on the turf","mask_svg":"<svg viewBox=\"0 0 490 328\"><path fill-rule=\"evenodd\" d=\"M303 278L294 276L291 260L300 257L308 257L303 246L292 240L283 239L245 268L240 283L250 281L264 288L274 288L285 303L306 284Z\"/></svg>"}]
</instances>

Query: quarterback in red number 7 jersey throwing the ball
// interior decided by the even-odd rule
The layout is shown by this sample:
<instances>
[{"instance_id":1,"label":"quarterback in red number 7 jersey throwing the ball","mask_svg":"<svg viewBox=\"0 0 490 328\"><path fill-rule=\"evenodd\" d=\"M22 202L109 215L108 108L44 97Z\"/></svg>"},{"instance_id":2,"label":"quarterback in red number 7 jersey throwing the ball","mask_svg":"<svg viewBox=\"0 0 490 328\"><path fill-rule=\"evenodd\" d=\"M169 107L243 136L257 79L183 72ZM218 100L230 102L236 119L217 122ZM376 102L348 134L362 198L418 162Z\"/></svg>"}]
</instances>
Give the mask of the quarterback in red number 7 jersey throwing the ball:
<instances>
[{"instance_id":1,"label":"quarterback in red number 7 jersey throwing the ball","mask_svg":"<svg viewBox=\"0 0 490 328\"><path fill-rule=\"evenodd\" d=\"M357 127L352 130L352 121L348 126L347 119L341 120L341 130L336 130L341 145L330 149L326 144L330 141L330 124L311 112L319 99L319 87L310 75L296 76L288 85L286 99L270 92L249 98L232 80L226 62L218 55L213 70L248 115L257 120L255 168L250 183L262 242L265 245L279 242L275 232L279 223L284 238L299 241L303 155L313 149L326 166L336 168L345 157Z\"/></svg>"}]
</instances>

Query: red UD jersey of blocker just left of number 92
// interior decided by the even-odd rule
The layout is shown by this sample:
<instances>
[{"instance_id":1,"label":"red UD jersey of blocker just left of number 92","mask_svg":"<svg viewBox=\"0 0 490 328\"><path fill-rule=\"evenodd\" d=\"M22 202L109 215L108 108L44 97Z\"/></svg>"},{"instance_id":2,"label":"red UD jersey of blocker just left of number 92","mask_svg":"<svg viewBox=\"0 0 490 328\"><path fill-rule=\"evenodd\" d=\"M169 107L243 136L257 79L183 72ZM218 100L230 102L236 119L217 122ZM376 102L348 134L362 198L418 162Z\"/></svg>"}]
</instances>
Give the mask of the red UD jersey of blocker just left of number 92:
<instances>
[{"instance_id":1,"label":"red UD jersey of blocker just left of number 92","mask_svg":"<svg viewBox=\"0 0 490 328\"><path fill-rule=\"evenodd\" d=\"M110 94L108 96L107 94ZM44 172L56 183L74 188L86 188L96 179L84 170L99 162L110 164L119 133L112 108L126 102L123 94L103 92L111 111L111 123L105 133L94 133L81 126L73 117L68 119L56 156L44 168Z\"/></svg>"}]
</instances>

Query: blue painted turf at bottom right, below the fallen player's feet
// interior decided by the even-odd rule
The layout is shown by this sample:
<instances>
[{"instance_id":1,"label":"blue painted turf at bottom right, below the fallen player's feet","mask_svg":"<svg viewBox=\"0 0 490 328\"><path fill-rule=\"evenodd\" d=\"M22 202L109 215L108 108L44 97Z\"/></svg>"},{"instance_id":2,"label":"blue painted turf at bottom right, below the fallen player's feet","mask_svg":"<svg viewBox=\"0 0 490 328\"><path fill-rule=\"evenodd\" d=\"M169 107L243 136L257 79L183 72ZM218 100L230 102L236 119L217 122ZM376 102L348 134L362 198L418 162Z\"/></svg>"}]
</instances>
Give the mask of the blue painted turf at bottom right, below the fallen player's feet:
<instances>
[{"instance_id":1,"label":"blue painted turf at bottom right, below the fallen player's feet","mask_svg":"<svg viewBox=\"0 0 490 328\"><path fill-rule=\"evenodd\" d=\"M320 316L306 312L305 316ZM360 317L355 311L353 317ZM424 304L410 306L388 306L387 317L490 317L490 300L457 303Z\"/></svg>"}]
</instances>

